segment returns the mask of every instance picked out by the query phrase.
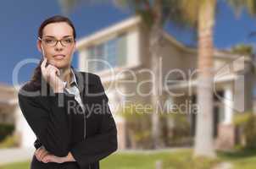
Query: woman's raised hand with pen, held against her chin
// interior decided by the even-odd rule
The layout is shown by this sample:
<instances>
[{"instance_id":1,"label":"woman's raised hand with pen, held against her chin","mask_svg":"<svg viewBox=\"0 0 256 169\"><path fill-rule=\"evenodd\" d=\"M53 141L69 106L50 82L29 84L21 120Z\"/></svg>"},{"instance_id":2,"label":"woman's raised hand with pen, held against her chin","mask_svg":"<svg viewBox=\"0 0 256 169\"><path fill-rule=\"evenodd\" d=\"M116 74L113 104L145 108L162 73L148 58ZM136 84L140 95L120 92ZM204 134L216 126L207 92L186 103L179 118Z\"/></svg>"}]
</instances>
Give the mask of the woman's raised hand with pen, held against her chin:
<instances>
[{"instance_id":1,"label":"woman's raised hand with pen, held against her chin","mask_svg":"<svg viewBox=\"0 0 256 169\"><path fill-rule=\"evenodd\" d=\"M47 64L47 58L45 57L41 64L42 77L49 83L49 85L51 85L55 93L63 92L64 82L63 80L58 78L59 76L58 68L54 67L51 64L48 64L46 67L46 64Z\"/></svg>"}]
</instances>

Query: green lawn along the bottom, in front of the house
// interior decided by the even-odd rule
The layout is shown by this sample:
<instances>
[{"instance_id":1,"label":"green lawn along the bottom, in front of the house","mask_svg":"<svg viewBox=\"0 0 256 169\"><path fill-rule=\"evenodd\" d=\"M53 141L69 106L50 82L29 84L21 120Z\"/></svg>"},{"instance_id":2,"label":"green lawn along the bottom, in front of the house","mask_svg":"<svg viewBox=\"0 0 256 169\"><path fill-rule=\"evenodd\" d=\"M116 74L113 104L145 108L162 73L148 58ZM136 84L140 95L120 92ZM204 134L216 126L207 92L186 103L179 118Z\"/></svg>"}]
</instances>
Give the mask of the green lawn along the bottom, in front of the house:
<instances>
[{"instance_id":1,"label":"green lawn along the bottom, in front of the house","mask_svg":"<svg viewBox=\"0 0 256 169\"><path fill-rule=\"evenodd\" d=\"M214 161L207 159L192 159L192 150L159 153L115 153L100 162L103 169L154 169L155 162L164 161L164 169L209 169L220 161L230 161L235 169L254 169L256 166L255 150L237 153L218 153ZM2 166L0 169L27 169L29 161Z\"/></svg>"}]
</instances>

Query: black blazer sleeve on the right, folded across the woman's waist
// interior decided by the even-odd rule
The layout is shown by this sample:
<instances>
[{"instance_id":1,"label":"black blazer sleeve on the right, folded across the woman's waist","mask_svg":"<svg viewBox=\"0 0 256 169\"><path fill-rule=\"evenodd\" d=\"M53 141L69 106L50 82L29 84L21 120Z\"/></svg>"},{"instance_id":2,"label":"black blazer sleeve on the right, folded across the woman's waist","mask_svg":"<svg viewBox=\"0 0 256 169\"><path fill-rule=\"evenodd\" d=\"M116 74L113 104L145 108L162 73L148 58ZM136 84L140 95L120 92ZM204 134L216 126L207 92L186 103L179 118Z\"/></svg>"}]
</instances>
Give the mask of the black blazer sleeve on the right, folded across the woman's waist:
<instances>
[{"instance_id":1,"label":"black blazer sleeve on the right, folded across the woman's waist","mask_svg":"<svg viewBox=\"0 0 256 169\"><path fill-rule=\"evenodd\" d=\"M99 134L88 137L78 144L71 147L71 154L81 168L91 162L99 161L117 150L117 129L114 118L110 112L108 97L105 95L102 82L97 76L97 88L99 92L103 92L103 112L102 123Z\"/></svg>"}]
</instances>

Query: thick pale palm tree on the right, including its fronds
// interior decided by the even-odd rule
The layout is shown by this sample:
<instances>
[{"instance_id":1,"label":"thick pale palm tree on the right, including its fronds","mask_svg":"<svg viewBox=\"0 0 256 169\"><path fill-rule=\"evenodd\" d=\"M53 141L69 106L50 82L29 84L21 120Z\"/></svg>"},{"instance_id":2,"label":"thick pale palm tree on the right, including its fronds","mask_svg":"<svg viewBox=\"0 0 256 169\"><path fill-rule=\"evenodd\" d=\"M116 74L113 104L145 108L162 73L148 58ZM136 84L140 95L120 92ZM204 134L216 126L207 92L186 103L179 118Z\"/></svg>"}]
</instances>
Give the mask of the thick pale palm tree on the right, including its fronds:
<instances>
[{"instance_id":1,"label":"thick pale palm tree on the right, including its fronds","mask_svg":"<svg viewBox=\"0 0 256 169\"><path fill-rule=\"evenodd\" d=\"M227 0L239 14L256 14L255 0ZM213 28L217 0L182 0L187 19L198 24L198 107L194 155L214 157L213 138Z\"/></svg>"}]
</instances>

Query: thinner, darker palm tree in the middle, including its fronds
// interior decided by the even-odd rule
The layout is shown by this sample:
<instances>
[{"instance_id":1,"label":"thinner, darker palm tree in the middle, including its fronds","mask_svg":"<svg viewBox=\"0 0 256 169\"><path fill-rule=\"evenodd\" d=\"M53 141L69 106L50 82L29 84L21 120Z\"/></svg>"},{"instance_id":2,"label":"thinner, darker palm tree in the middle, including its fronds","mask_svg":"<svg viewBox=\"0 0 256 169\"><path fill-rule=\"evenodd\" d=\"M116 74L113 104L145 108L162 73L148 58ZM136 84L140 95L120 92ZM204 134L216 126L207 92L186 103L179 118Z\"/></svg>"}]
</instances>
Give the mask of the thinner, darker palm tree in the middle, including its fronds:
<instances>
[{"instance_id":1,"label":"thinner, darker palm tree in the middle, including its fronds","mask_svg":"<svg viewBox=\"0 0 256 169\"><path fill-rule=\"evenodd\" d=\"M79 0L59 0L64 11L69 11L70 8L77 3L81 3ZM86 1L84 1L86 2ZM161 40L163 39L163 27L167 21L180 26L182 28L186 25L186 20L182 18L181 10L178 8L178 2L176 0L113 0L115 5L121 8L129 8L134 11L135 14L142 17L142 21L146 24L147 30L149 30L149 49L151 52L151 68L153 70L153 95L152 95L152 139L153 148L159 148L164 145L161 139L161 127L159 112L160 107L160 86L159 86L159 64L160 64L160 50Z\"/></svg>"}]
</instances>

